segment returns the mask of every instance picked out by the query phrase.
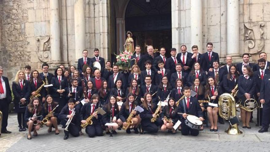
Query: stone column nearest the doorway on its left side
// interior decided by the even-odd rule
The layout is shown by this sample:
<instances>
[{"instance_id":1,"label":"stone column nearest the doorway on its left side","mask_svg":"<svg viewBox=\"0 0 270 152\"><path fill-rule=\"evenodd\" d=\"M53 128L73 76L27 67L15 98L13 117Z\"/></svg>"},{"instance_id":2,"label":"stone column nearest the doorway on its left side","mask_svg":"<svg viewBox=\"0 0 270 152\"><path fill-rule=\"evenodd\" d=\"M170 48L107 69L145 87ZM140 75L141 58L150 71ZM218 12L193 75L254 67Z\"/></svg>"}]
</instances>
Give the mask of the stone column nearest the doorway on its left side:
<instances>
[{"instance_id":1,"label":"stone column nearest the doorway on its left side","mask_svg":"<svg viewBox=\"0 0 270 152\"><path fill-rule=\"evenodd\" d=\"M83 0L74 1L74 24L75 57L76 60L78 60L82 56L82 52L85 49L85 20Z\"/></svg>"}]
</instances>

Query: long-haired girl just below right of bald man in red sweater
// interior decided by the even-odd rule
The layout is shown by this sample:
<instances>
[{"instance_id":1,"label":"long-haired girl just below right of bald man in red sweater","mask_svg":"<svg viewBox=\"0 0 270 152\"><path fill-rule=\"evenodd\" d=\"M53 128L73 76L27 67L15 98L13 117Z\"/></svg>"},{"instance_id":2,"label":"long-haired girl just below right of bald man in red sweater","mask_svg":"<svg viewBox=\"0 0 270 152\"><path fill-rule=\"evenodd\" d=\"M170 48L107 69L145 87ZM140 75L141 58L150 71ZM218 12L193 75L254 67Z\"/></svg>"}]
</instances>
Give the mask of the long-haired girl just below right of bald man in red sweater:
<instances>
[{"instance_id":1,"label":"long-haired girl just below right of bald man in red sweater","mask_svg":"<svg viewBox=\"0 0 270 152\"><path fill-rule=\"evenodd\" d=\"M106 103L108 103L108 99L110 96L110 89L108 88L107 80L103 80L101 83L101 88L98 90L99 102L103 107Z\"/></svg>"}]
</instances>

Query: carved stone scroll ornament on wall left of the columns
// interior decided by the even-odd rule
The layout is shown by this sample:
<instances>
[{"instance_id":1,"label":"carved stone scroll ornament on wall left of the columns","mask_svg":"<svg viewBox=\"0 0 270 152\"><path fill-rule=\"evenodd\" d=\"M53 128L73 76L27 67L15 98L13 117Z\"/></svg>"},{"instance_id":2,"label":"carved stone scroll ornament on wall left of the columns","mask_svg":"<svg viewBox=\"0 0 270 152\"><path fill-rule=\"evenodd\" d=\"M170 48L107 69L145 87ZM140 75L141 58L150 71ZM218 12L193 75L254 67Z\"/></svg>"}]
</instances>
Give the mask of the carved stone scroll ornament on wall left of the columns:
<instances>
[{"instance_id":1,"label":"carved stone scroll ornament on wall left of the columns","mask_svg":"<svg viewBox=\"0 0 270 152\"><path fill-rule=\"evenodd\" d=\"M38 59L41 62L49 62L51 59L51 45L50 45L50 37L37 37L37 50L39 52Z\"/></svg>"}]
</instances>

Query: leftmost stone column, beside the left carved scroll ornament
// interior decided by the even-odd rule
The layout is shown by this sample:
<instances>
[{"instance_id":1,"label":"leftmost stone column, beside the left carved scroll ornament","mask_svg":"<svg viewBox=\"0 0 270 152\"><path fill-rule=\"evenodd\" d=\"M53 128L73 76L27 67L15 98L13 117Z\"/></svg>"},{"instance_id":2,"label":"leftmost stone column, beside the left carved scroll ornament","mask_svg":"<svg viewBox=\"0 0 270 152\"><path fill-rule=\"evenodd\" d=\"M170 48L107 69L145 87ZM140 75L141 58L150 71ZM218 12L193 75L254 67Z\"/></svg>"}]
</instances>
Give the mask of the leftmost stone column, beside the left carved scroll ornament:
<instances>
[{"instance_id":1,"label":"leftmost stone column, beside the left carved scroll ornament","mask_svg":"<svg viewBox=\"0 0 270 152\"><path fill-rule=\"evenodd\" d=\"M60 6L58 0L50 0L51 61L61 61Z\"/></svg>"}]
</instances>

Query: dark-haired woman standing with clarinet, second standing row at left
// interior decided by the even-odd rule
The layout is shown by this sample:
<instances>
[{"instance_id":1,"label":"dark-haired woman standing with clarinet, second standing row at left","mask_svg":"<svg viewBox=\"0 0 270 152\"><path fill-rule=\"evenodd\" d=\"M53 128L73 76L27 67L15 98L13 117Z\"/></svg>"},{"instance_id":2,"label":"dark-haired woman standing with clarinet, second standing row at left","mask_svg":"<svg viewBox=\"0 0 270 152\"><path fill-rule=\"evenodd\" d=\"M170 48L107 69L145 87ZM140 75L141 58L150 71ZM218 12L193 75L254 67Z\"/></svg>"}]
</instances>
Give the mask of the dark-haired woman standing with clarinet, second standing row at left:
<instances>
[{"instance_id":1,"label":"dark-haired woman standing with clarinet, second standing row at left","mask_svg":"<svg viewBox=\"0 0 270 152\"><path fill-rule=\"evenodd\" d=\"M52 97L59 103L59 109L61 110L67 104L67 100L65 99L65 88L68 87L68 82L64 77L62 68L57 68L55 70L55 76L52 77L51 84L53 85L51 87Z\"/></svg>"}]
</instances>

